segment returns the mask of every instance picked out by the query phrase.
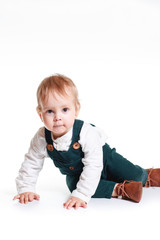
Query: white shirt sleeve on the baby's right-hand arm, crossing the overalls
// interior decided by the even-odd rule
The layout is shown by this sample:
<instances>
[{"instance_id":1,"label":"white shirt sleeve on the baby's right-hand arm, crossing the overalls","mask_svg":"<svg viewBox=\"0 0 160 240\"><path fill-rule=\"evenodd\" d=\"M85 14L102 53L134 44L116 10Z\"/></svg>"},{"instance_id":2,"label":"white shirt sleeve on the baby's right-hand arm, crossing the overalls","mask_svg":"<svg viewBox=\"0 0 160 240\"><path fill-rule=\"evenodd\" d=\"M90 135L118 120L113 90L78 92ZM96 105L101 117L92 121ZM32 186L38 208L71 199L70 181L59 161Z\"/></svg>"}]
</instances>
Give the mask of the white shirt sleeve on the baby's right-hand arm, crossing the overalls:
<instances>
[{"instance_id":1,"label":"white shirt sleeve on the baby's right-hand arm, crossing the overalls","mask_svg":"<svg viewBox=\"0 0 160 240\"><path fill-rule=\"evenodd\" d=\"M103 139L96 127L84 123L79 143L84 152L84 158L82 159L84 167L77 187L71 196L89 202L97 189L103 169Z\"/></svg>"}]
</instances>

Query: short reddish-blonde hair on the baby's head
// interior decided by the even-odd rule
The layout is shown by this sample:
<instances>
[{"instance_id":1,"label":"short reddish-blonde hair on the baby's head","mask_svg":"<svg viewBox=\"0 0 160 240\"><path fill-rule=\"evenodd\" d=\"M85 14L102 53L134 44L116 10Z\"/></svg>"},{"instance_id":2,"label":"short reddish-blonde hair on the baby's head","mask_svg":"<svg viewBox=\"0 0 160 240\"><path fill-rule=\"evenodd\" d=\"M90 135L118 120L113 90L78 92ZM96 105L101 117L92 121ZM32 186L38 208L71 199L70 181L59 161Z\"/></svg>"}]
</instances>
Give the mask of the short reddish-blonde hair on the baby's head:
<instances>
[{"instance_id":1,"label":"short reddish-blonde hair on the baby's head","mask_svg":"<svg viewBox=\"0 0 160 240\"><path fill-rule=\"evenodd\" d=\"M78 100L78 91L73 81L61 74L56 74L45 78L37 89L37 111L40 112L42 110L41 105L48 97L50 91L53 92L53 94L56 92L64 96L68 95L67 90L72 92L77 110L80 106L80 102Z\"/></svg>"}]
</instances>

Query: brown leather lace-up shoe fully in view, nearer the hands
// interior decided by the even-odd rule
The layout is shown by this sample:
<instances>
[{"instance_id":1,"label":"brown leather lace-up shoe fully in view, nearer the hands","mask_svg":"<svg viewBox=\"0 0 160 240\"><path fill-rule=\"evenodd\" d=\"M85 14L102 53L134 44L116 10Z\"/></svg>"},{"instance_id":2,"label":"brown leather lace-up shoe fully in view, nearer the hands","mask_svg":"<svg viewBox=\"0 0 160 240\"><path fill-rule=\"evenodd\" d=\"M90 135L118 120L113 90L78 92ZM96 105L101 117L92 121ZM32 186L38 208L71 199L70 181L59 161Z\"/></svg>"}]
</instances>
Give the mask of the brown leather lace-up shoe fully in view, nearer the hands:
<instances>
[{"instance_id":1,"label":"brown leather lace-up shoe fully in view, nearer the hands","mask_svg":"<svg viewBox=\"0 0 160 240\"><path fill-rule=\"evenodd\" d=\"M117 196L133 202L140 202L142 198L142 183L135 181L124 181L119 183L115 189Z\"/></svg>"}]
</instances>

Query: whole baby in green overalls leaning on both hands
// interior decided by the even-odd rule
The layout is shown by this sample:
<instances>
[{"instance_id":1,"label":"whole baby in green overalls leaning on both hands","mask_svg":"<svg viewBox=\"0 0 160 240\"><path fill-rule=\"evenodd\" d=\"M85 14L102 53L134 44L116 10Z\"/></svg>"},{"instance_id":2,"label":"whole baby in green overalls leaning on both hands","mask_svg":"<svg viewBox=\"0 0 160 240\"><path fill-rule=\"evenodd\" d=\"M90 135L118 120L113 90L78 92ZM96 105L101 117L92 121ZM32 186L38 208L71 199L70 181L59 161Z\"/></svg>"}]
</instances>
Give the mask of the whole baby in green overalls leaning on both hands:
<instances>
[{"instance_id":1,"label":"whole baby in green overalls leaning on both hands","mask_svg":"<svg viewBox=\"0 0 160 240\"><path fill-rule=\"evenodd\" d=\"M143 169L111 149L105 134L78 120L80 102L73 81L63 75L44 79L37 90L37 112L44 127L33 137L16 178L20 203L39 200L35 185L44 159L50 157L66 175L71 196L66 209L86 208L94 198L139 202L142 187L160 186L160 169Z\"/></svg>"}]
</instances>

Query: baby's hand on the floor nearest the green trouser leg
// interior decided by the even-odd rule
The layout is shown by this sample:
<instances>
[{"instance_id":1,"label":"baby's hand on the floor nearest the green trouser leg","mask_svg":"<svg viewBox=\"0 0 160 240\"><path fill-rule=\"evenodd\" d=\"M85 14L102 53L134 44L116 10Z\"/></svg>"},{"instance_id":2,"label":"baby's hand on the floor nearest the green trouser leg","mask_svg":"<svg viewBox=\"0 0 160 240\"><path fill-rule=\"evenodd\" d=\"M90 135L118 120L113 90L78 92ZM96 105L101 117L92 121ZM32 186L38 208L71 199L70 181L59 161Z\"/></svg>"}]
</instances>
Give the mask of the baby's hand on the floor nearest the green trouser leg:
<instances>
[{"instance_id":1,"label":"baby's hand on the floor nearest the green trouser leg","mask_svg":"<svg viewBox=\"0 0 160 240\"><path fill-rule=\"evenodd\" d=\"M76 197L70 197L69 200L66 203L64 203L63 205L64 205L64 208L66 208L66 209L71 209L72 207L74 207L76 210L79 207L83 207L83 208L87 207L86 202L84 202L80 198L76 198Z\"/></svg>"}]
</instances>

